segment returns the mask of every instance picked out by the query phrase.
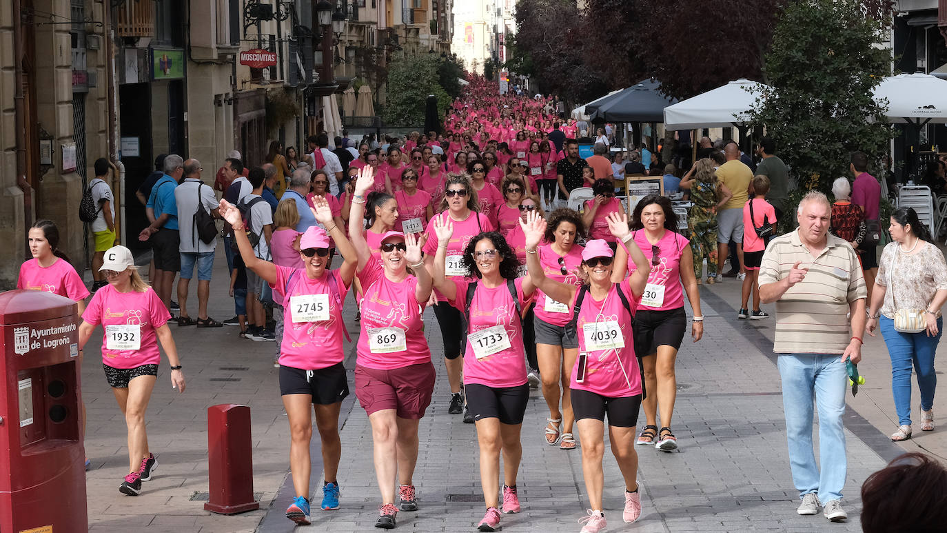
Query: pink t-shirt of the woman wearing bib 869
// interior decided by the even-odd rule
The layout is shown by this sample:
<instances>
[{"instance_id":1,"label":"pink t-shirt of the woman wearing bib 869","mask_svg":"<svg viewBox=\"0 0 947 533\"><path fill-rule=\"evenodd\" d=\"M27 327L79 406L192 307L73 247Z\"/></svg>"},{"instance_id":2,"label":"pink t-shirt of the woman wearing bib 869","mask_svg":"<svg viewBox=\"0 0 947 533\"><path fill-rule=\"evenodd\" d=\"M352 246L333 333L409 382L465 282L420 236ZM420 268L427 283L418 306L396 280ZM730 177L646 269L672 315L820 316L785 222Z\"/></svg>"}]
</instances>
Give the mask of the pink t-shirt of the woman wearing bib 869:
<instances>
[{"instance_id":1,"label":"pink t-shirt of the woman wearing bib 869","mask_svg":"<svg viewBox=\"0 0 947 533\"><path fill-rule=\"evenodd\" d=\"M362 310L362 333L358 340L358 364L366 368L390 370L411 364L431 362L431 350L424 338L423 304L415 297L418 278L408 275L401 282L388 279L384 267L376 258L358 274L364 297ZM398 328L405 331L407 349L390 353L372 353L368 341L368 329Z\"/></svg>"}]
</instances>

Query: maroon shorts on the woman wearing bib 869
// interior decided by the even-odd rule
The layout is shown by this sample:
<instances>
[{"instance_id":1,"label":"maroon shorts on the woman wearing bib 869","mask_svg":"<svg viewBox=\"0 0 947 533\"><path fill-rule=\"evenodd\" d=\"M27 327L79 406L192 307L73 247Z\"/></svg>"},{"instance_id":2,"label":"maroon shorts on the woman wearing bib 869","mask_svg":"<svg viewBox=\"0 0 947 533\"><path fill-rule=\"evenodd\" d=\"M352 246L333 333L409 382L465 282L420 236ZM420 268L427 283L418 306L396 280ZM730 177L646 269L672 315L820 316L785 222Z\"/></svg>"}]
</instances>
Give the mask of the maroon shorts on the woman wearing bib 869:
<instances>
[{"instance_id":1,"label":"maroon shorts on the woman wearing bib 869","mask_svg":"<svg viewBox=\"0 0 947 533\"><path fill-rule=\"evenodd\" d=\"M398 418L418 420L431 404L434 364L420 363L391 370L355 365L355 397L368 415L395 409Z\"/></svg>"}]
</instances>

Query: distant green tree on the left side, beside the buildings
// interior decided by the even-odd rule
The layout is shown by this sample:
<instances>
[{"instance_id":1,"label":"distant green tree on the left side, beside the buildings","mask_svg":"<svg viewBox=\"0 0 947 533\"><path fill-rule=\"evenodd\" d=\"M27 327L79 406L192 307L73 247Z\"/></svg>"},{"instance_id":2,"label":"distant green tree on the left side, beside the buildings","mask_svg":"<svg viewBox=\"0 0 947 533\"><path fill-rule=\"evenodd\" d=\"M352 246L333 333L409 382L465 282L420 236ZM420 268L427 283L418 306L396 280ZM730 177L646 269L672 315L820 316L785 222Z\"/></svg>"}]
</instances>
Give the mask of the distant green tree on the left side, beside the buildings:
<instances>
[{"instance_id":1,"label":"distant green tree on the left side, beside the buildings","mask_svg":"<svg viewBox=\"0 0 947 533\"><path fill-rule=\"evenodd\" d=\"M438 98L438 116L452 98L440 86L438 64L435 54L403 56L388 65L387 98L382 118L393 126L424 125L424 103L428 95Z\"/></svg>"}]
</instances>

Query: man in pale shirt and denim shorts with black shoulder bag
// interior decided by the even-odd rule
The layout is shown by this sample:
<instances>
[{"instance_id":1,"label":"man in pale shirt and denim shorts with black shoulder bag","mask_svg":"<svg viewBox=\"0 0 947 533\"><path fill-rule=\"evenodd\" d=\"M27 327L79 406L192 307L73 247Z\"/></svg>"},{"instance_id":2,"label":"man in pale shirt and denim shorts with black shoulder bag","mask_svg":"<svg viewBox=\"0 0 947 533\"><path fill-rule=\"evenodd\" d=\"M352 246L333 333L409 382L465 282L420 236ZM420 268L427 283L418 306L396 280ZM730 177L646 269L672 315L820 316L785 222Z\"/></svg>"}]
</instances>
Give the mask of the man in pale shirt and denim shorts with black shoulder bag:
<instances>
[{"instance_id":1,"label":"man in pale shirt and denim shorts with black shoulder bag","mask_svg":"<svg viewBox=\"0 0 947 533\"><path fill-rule=\"evenodd\" d=\"M219 203L214 191L201 179L201 162L188 159L184 162L184 181L174 189L177 205L181 254L181 276L178 279L178 305L181 314L178 326L197 324L198 328L220 328L220 322L207 316L207 299L210 296L210 275L214 271L214 252L217 236L210 242L200 237L197 227L197 212L204 209L213 218L220 218ZM197 267L197 320L188 315L188 286Z\"/></svg>"}]
</instances>

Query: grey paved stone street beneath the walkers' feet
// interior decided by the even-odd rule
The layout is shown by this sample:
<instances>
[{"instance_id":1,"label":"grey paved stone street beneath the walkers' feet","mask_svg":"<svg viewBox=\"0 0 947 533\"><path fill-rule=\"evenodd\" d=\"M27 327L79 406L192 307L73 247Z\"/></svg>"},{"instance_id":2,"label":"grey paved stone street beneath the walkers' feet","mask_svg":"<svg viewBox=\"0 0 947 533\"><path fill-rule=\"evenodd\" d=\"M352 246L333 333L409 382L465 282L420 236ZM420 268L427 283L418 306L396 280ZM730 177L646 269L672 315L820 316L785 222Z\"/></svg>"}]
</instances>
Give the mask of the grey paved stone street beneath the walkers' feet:
<instances>
[{"instance_id":1,"label":"grey paved stone street beneath the walkers' feet","mask_svg":"<svg viewBox=\"0 0 947 533\"><path fill-rule=\"evenodd\" d=\"M211 282L210 314L218 320L233 314L226 294L226 263L218 253ZM605 513L609 530L627 531L860 531L859 489L867 475L904 449L922 447L944 456L938 432L919 435L905 448L884 436L893 429L890 366L884 343L867 340L860 366L868 382L856 399L849 395L847 440L849 480L845 504L849 522L830 524L821 514L795 514L782 417L782 399L775 356L774 320L738 321L735 279L702 286L705 339L685 339L677 362L679 394L673 428L680 453L657 453L638 447L639 481L644 514L636 524L621 522L622 480L609 452L605 455ZM191 295L192 305L196 296ZM763 308L771 314L772 306ZM689 314L689 310L688 310ZM354 305L348 299L349 332L355 338ZM433 314L425 314L428 341L440 353L440 335ZM172 326L182 353L188 390L170 389L167 364L161 368L147 419L158 469L142 495L117 491L127 471L125 425L101 371L98 341L86 348L82 382L88 405L86 448L93 470L88 473L89 522L94 531L290 531L283 511L291 500L288 473L289 435L278 395L276 346L238 337L237 328L179 329ZM347 343L347 367L354 351ZM438 374L443 364L435 357ZM349 383L350 378L349 370ZM398 528L405 531L472 531L483 514L473 425L446 413L447 381L438 376L434 402L420 424L420 458L415 476L420 511L402 512ZM207 485L206 408L218 403L243 403L253 409L254 490L260 509L236 516L204 510ZM943 400L936 410L944 411ZM343 404L343 458L339 471L342 508L319 511L315 498L313 530L368 531L377 518L379 493L371 461L371 434L365 412L354 394ZM524 458L519 476L523 512L504 515L505 531L578 531L577 519L588 505L581 477L581 451L563 452L545 445L545 402L532 391L523 424ZM643 415L639 423L643 425ZM816 431L817 435L817 431ZM578 437L578 435L577 435ZM581 446L581 445L580 445ZM607 450L607 448L606 448ZM313 488L318 479L318 438L313 442Z\"/></svg>"}]
</instances>

